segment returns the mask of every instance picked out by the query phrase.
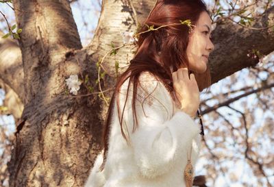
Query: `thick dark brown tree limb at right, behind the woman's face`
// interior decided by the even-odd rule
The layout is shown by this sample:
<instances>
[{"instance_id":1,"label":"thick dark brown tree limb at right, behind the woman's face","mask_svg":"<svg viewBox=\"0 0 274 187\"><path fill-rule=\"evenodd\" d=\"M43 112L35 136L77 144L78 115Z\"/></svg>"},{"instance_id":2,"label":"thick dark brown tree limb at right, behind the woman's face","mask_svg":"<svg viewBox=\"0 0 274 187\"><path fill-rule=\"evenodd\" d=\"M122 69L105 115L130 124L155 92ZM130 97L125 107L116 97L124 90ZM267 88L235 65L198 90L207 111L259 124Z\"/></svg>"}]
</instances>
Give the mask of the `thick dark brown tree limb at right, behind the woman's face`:
<instances>
[{"instance_id":1,"label":"thick dark brown tree limb at right, behind the woman's face","mask_svg":"<svg viewBox=\"0 0 274 187\"><path fill-rule=\"evenodd\" d=\"M268 24L267 24L268 23ZM274 25L274 7L257 18L252 27ZM252 49L268 55L274 51L274 29L246 29L240 25L225 21L219 23L213 32L215 50L210 54L212 84L240 71L242 68L256 66L258 59L247 57Z\"/></svg>"}]
</instances>

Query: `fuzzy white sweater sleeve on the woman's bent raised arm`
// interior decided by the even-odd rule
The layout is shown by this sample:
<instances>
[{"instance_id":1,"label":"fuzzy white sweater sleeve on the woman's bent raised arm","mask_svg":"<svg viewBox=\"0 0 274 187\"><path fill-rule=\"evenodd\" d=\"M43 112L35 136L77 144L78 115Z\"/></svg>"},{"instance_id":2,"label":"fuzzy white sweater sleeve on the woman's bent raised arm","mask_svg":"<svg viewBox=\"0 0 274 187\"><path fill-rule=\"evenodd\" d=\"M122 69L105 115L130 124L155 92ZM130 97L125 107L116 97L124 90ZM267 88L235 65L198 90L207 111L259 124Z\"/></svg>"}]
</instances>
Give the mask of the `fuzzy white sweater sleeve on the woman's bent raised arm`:
<instances>
[{"instance_id":1,"label":"fuzzy white sweater sleeve on the woman's bent raised arm","mask_svg":"<svg viewBox=\"0 0 274 187\"><path fill-rule=\"evenodd\" d=\"M127 125L134 162L140 174L154 178L168 173L178 159L186 158L186 145L199 134L199 125L185 112L173 114L171 95L153 75L141 74L139 81L136 101L138 127L133 131L131 91L123 122ZM125 103L124 91L119 95L122 107Z\"/></svg>"}]
</instances>

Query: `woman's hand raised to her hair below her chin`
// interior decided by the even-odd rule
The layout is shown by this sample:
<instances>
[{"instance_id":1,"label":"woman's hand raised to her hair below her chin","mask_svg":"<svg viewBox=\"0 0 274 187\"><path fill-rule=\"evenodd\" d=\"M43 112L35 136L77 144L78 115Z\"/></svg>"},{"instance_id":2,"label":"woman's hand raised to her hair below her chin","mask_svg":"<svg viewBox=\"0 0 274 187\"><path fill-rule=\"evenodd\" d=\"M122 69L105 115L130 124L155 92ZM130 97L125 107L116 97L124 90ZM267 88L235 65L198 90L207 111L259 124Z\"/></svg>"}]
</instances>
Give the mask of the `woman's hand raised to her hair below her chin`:
<instances>
[{"instance_id":1,"label":"woman's hand raised to her hair below her chin","mask_svg":"<svg viewBox=\"0 0 274 187\"><path fill-rule=\"evenodd\" d=\"M200 103L200 92L193 73L188 77L188 68L179 68L172 73L173 88L181 110L195 117Z\"/></svg>"}]
</instances>

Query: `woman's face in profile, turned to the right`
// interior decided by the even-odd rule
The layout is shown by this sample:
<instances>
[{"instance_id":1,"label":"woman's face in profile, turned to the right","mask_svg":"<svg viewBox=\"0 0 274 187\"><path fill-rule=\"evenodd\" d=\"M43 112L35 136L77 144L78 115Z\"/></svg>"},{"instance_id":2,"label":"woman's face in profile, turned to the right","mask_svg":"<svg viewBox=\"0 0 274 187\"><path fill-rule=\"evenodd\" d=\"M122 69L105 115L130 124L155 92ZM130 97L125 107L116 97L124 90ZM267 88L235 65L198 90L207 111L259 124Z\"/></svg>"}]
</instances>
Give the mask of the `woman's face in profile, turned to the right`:
<instances>
[{"instance_id":1,"label":"woman's face in profile, turned to the right","mask_svg":"<svg viewBox=\"0 0 274 187\"><path fill-rule=\"evenodd\" d=\"M211 38L212 21L207 12L201 12L196 27L189 36L186 55L189 61L189 69L197 73L204 73L208 64L208 56L214 50Z\"/></svg>"}]
</instances>

